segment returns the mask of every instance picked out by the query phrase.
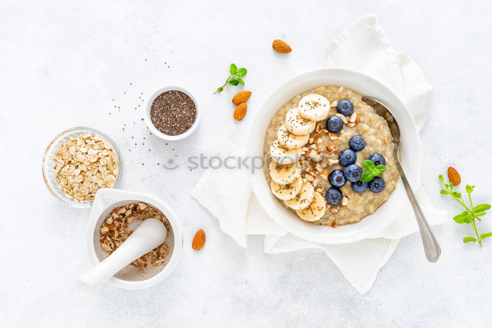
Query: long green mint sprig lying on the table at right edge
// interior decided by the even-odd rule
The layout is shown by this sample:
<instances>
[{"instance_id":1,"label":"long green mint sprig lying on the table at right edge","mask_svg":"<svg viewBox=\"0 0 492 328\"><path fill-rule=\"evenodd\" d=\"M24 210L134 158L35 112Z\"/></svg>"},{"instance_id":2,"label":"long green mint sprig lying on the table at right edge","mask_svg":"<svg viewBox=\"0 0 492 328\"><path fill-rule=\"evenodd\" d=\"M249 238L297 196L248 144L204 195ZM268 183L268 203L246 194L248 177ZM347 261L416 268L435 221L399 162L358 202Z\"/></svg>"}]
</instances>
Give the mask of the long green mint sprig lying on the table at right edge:
<instances>
[{"instance_id":1,"label":"long green mint sprig lying on the table at right edge","mask_svg":"<svg viewBox=\"0 0 492 328\"><path fill-rule=\"evenodd\" d=\"M456 190L455 186L453 185L453 182L450 181L449 183L445 183L442 174L439 176L439 180L441 180L442 184L446 188L441 190L441 194L450 195L458 203L460 203L464 209L466 209L464 212L455 215L453 217L453 220L455 220L456 223L470 223L471 227L473 228L473 231L475 231L475 235L477 236L477 238L465 237L463 238L463 242L469 242L469 241L478 242L480 247L482 247L482 240L487 237L491 237L492 232L479 235L477 230L476 220L482 221L480 219L480 216L484 216L485 214L487 214L485 211L491 208L490 204L480 204L474 207L471 201L471 193L473 192L475 186L471 186L467 184L465 189L466 189L466 193L468 194L468 200L470 202L470 205L467 206L463 200L463 197L461 197L461 192L458 192L458 190Z\"/></svg>"}]
</instances>

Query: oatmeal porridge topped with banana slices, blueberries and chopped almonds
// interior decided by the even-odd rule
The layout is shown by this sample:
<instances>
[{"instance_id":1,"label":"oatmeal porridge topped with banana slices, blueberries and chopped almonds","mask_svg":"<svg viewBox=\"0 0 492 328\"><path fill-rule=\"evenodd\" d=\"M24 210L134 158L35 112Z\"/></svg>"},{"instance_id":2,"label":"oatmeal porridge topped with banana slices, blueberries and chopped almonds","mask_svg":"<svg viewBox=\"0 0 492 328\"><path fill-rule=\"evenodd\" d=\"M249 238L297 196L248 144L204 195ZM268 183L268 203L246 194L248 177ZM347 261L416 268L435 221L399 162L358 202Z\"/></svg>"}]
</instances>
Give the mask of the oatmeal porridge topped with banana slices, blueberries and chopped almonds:
<instances>
[{"instance_id":1,"label":"oatmeal porridge topped with banana slices, blueberries and chopped almonds","mask_svg":"<svg viewBox=\"0 0 492 328\"><path fill-rule=\"evenodd\" d=\"M399 179L386 119L340 86L308 90L279 108L263 151L272 193L316 225L359 222Z\"/></svg>"}]
</instances>

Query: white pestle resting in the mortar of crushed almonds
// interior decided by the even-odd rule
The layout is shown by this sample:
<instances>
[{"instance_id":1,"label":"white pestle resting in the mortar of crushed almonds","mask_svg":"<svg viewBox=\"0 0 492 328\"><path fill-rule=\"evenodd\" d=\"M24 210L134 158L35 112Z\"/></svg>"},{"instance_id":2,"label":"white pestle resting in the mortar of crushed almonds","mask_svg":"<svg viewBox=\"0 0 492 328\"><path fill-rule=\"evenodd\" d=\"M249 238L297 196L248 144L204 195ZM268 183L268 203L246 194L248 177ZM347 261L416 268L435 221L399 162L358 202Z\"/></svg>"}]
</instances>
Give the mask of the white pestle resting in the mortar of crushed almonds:
<instances>
[{"instance_id":1,"label":"white pestle resting in the mortar of crushed almonds","mask_svg":"<svg viewBox=\"0 0 492 328\"><path fill-rule=\"evenodd\" d=\"M118 247L94 268L75 279L80 294L91 295L106 280L142 255L153 250L166 240L166 226L159 220L149 218Z\"/></svg>"}]
</instances>

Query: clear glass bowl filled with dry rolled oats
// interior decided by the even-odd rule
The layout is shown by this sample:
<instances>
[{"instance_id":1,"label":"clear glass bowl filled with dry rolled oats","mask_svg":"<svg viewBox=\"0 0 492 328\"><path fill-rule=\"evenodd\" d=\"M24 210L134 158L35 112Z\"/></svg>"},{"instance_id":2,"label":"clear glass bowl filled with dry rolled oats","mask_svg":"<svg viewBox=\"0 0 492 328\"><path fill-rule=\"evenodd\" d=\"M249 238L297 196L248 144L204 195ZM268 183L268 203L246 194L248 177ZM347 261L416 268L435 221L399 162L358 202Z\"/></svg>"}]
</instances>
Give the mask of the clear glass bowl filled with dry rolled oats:
<instances>
[{"instance_id":1,"label":"clear glass bowl filled with dry rolled oats","mask_svg":"<svg viewBox=\"0 0 492 328\"><path fill-rule=\"evenodd\" d=\"M122 172L114 141L89 127L73 127L57 135L44 152L42 166L48 190L77 208L90 207L99 188L115 188Z\"/></svg>"}]
</instances>

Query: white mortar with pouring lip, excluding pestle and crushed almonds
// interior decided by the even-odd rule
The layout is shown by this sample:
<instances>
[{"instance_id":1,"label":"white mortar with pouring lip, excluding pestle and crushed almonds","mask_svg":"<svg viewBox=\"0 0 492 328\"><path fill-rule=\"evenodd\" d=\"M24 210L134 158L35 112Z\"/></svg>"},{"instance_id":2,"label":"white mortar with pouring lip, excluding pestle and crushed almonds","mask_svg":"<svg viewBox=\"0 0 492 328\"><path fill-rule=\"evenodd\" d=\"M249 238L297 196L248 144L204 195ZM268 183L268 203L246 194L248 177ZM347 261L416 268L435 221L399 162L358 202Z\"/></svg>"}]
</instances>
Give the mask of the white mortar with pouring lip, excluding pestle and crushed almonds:
<instances>
[{"instance_id":1,"label":"white mortar with pouring lip, excluding pestle and crushed almonds","mask_svg":"<svg viewBox=\"0 0 492 328\"><path fill-rule=\"evenodd\" d=\"M160 210L167 218L169 228L165 242L169 244L169 253L162 265L146 268L145 275L140 274L130 264L109 278L109 283L125 289L147 288L163 280L176 267L183 248L181 223L176 213L166 203L144 193L102 188L97 191L87 226L87 252L92 266L99 264L107 257L106 251L101 248L99 241L102 237L101 225L106 220L107 215L116 207L138 202ZM133 223L137 223L135 221ZM137 226L141 222L143 221L138 222Z\"/></svg>"}]
</instances>

